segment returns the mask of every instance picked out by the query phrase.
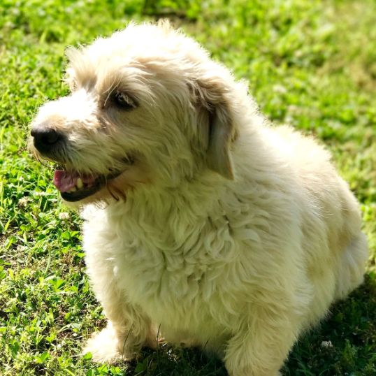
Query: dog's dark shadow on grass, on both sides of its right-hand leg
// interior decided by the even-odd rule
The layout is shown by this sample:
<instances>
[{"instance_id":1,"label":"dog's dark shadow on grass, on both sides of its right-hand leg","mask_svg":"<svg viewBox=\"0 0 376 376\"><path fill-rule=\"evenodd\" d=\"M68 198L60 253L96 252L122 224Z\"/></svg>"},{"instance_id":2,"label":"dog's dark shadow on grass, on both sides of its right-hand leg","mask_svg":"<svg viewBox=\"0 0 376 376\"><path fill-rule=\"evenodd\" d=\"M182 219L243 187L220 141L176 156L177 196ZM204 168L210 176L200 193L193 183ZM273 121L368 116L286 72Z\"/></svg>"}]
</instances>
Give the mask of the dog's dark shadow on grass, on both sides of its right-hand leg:
<instances>
[{"instance_id":1,"label":"dog's dark shadow on grass, on both sides of its right-hand leg","mask_svg":"<svg viewBox=\"0 0 376 376\"><path fill-rule=\"evenodd\" d=\"M296 343L282 375L376 375L376 277L345 301L333 305L320 326ZM145 349L138 361L128 363L127 375L226 376L221 361L198 349L161 345Z\"/></svg>"}]
</instances>

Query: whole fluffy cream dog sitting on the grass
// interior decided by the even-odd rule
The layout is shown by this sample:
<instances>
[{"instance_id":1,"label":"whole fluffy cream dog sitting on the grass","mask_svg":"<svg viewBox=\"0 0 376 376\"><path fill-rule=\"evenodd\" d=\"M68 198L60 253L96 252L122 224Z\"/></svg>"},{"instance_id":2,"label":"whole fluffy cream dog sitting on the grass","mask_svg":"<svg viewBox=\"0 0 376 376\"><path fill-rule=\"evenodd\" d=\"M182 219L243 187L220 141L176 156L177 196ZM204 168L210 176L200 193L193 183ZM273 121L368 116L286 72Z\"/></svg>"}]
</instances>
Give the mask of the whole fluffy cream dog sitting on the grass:
<instances>
[{"instance_id":1,"label":"whole fluffy cream dog sitting on the grass","mask_svg":"<svg viewBox=\"0 0 376 376\"><path fill-rule=\"evenodd\" d=\"M93 359L171 342L230 375L277 375L306 328L361 284L366 237L329 155L259 114L191 38L130 24L69 49L71 94L46 103L31 149L85 207L87 271L108 326Z\"/></svg>"}]
</instances>

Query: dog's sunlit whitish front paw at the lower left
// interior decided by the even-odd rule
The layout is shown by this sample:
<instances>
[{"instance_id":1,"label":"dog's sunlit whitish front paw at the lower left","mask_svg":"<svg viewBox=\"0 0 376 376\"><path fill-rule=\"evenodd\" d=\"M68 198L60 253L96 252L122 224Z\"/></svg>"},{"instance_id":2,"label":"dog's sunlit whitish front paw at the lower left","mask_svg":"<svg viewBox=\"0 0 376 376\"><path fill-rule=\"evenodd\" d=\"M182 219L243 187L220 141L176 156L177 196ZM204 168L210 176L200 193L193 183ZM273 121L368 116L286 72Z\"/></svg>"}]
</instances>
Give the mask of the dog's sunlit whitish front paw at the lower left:
<instances>
[{"instance_id":1,"label":"dog's sunlit whitish front paw at the lower left","mask_svg":"<svg viewBox=\"0 0 376 376\"><path fill-rule=\"evenodd\" d=\"M122 343L123 342L123 343ZM115 363L116 361L130 361L136 357L137 352L132 349L126 340L120 341L111 327L94 333L82 354L92 354L92 361L97 363Z\"/></svg>"}]
</instances>

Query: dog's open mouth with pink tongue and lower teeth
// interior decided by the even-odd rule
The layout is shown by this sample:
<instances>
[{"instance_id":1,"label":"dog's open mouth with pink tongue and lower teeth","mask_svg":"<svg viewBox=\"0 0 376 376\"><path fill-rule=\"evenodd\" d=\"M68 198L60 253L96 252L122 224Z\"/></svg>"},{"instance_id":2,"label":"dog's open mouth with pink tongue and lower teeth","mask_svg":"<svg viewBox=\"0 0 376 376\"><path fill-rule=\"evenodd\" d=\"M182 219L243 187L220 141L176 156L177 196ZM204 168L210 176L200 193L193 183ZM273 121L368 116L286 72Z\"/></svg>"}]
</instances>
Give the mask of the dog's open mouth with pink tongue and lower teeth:
<instances>
[{"instance_id":1,"label":"dog's open mouth with pink tongue and lower teeth","mask_svg":"<svg viewBox=\"0 0 376 376\"><path fill-rule=\"evenodd\" d=\"M53 183L59 189L64 200L75 202L92 196L106 186L109 180L117 178L120 174L121 172L114 172L109 175L85 175L56 170Z\"/></svg>"}]
</instances>

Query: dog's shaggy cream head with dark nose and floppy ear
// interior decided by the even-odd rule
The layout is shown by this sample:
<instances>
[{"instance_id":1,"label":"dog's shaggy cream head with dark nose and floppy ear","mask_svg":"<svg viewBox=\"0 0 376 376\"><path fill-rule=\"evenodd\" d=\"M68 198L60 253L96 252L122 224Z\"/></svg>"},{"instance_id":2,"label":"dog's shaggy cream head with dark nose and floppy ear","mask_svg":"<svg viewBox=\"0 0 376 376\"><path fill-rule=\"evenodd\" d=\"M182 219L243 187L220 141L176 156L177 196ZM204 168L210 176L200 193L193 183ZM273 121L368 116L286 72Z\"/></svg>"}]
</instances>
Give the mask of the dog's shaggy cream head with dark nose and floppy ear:
<instances>
[{"instance_id":1,"label":"dog's shaggy cream head with dark nose and floppy ear","mask_svg":"<svg viewBox=\"0 0 376 376\"><path fill-rule=\"evenodd\" d=\"M232 178L235 84L197 43L167 24L132 24L67 56L71 94L39 109L29 142L64 168L54 176L64 200L173 187L208 169Z\"/></svg>"}]
</instances>

